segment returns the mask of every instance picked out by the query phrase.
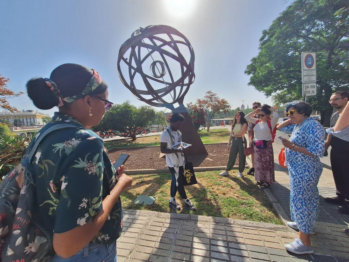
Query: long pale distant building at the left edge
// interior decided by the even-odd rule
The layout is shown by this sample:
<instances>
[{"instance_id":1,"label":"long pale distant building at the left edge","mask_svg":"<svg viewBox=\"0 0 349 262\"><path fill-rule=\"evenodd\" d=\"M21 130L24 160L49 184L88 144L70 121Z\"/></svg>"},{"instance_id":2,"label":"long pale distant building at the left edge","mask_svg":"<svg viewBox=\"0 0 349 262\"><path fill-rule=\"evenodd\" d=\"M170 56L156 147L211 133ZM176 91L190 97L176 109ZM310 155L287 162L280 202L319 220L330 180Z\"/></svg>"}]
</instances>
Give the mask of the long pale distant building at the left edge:
<instances>
[{"instance_id":1,"label":"long pale distant building at the left edge","mask_svg":"<svg viewBox=\"0 0 349 262\"><path fill-rule=\"evenodd\" d=\"M43 118L50 117L49 115L35 112L34 110L22 110L22 112L0 112L0 120L8 120L12 124L15 119L18 122L22 122L21 125L30 126L30 125L43 125Z\"/></svg>"}]
</instances>

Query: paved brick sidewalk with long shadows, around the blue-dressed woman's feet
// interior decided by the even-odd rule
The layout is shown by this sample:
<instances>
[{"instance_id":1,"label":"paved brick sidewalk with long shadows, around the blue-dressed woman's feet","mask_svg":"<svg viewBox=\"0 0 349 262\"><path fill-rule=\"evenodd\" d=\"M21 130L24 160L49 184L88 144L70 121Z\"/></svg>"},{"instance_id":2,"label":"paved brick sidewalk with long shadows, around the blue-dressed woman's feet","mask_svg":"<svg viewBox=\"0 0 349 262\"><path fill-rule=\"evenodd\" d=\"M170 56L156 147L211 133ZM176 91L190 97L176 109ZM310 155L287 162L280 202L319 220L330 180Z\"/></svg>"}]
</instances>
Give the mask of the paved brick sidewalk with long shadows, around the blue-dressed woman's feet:
<instances>
[{"instance_id":1,"label":"paved brick sidewalk with long shadows, around the blue-dressed woman's feet","mask_svg":"<svg viewBox=\"0 0 349 262\"><path fill-rule=\"evenodd\" d=\"M277 154L275 157L277 159ZM277 161L275 180L275 184L264 191L285 222L290 219L288 170L277 165ZM343 230L349 228L349 217L338 213L337 206L324 202L324 197L335 195L332 172L328 168L324 168L318 188L321 208L314 228L316 234L311 236L314 254L286 252L284 245L292 242L297 232L285 225L124 210L123 232L117 243L118 262L348 262L349 237Z\"/></svg>"}]
</instances>

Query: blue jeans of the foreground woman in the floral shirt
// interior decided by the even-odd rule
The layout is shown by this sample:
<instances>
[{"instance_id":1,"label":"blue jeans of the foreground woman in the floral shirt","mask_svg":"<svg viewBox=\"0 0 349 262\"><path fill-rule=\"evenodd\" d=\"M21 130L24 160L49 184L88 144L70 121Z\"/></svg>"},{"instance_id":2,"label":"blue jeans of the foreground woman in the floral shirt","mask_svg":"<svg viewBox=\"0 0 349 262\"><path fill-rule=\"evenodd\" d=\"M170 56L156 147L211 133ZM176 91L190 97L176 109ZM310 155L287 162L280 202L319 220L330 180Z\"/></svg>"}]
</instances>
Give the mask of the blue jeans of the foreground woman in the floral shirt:
<instances>
[{"instance_id":1,"label":"blue jeans of the foreground woman in the floral shirt","mask_svg":"<svg viewBox=\"0 0 349 262\"><path fill-rule=\"evenodd\" d=\"M81 249L75 255L63 259L55 254L51 262L117 262L116 259L116 241L110 244L88 243L86 247Z\"/></svg>"}]
</instances>

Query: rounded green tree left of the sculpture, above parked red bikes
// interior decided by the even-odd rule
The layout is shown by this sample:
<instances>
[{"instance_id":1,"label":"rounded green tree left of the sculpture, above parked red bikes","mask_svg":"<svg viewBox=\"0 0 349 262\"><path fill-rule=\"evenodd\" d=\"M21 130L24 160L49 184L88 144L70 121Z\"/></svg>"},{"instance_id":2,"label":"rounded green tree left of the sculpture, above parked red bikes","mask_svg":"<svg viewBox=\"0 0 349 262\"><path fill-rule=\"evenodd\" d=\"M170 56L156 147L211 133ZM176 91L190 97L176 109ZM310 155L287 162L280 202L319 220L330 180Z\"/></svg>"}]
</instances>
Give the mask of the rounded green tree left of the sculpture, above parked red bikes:
<instances>
[{"instance_id":1,"label":"rounded green tree left of the sculpture, above parked red bikes","mask_svg":"<svg viewBox=\"0 0 349 262\"><path fill-rule=\"evenodd\" d=\"M156 122L156 111L149 105L135 107L129 101L115 104L107 111L99 125L92 128L93 131L115 130L125 132L128 137L136 140L136 130L145 128Z\"/></svg>"}]
</instances>

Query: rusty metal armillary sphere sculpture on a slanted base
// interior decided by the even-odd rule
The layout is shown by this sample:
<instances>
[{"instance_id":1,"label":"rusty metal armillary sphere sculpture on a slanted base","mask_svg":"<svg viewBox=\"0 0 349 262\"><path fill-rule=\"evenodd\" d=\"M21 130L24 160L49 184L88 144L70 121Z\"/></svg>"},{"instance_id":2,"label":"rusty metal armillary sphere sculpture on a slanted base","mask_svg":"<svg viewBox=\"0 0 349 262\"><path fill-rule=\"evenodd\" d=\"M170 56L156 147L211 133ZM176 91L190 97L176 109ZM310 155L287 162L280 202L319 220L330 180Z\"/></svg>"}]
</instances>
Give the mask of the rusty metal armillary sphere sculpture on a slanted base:
<instances>
[{"instance_id":1,"label":"rusty metal armillary sphere sculpture on a slanted base","mask_svg":"<svg viewBox=\"0 0 349 262\"><path fill-rule=\"evenodd\" d=\"M195 79L194 58L190 42L178 30L148 26L134 31L121 45L118 72L121 82L137 99L184 115L182 139L193 145L186 149L187 154L207 154L183 104Z\"/></svg>"}]
</instances>

